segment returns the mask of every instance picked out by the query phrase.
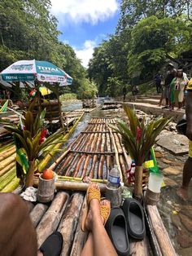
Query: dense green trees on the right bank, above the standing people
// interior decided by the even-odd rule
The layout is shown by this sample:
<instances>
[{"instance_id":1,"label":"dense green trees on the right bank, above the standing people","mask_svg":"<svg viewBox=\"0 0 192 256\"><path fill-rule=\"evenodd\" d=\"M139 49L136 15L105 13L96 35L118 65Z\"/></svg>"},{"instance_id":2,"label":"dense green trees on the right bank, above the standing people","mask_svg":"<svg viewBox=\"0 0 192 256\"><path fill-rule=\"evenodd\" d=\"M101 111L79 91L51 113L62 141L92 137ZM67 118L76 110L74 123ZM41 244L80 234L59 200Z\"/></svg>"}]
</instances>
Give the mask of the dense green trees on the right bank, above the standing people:
<instances>
[{"instance_id":1,"label":"dense green trees on the right bank, above the standing people","mask_svg":"<svg viewBox=\"0 0 192 256\"><path fill-rule=\"evenodd\" d=\"M94 49L90 79L99 95L123 95L123 88L154 79L171 60L183 66L192 52L192 2L122 0L116 33ZM188 15L189 13L189 15Z\"/></svg>"}]
</instances>

